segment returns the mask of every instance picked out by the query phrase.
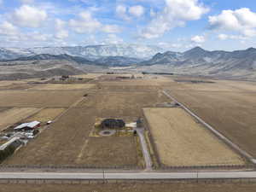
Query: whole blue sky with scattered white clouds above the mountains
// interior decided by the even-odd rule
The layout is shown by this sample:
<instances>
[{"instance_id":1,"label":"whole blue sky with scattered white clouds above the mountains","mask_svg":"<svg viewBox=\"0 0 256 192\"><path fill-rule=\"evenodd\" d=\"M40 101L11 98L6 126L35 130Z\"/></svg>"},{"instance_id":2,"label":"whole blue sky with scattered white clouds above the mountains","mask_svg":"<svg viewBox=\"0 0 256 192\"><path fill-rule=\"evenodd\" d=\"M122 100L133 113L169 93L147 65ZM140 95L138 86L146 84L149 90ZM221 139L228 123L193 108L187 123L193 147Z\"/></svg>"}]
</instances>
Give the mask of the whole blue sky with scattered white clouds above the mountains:
<instances>
[{"instance_id":1,"label":"whole blue sky with scattered white clouds above the mountains","mask_svg":"<svg viewBox=\"0 0 256 192\"><path fill-rule=\"evenodd\" d=\"M247 49L253 0L0 0L0 47L152 44Z\"/></svg>"}]
</instances>

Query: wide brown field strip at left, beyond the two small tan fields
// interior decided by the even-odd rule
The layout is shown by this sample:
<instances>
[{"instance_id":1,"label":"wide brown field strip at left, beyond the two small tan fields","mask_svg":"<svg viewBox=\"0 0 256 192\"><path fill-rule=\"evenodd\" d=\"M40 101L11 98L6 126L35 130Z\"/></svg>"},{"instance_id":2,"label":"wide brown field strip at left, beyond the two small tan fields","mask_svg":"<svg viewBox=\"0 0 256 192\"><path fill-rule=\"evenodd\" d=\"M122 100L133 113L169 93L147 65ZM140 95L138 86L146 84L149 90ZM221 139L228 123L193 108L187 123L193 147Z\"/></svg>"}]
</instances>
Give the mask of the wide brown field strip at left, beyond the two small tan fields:
<instances>
[{"instance_id":1,"label":"wide brown field strip at left, beyond the two small tan fields","mask_svg":"<svg viewBox=\"0 0 256 192\"><path fill-rule=\"evenodd\" d=\"M0 107L69 107L83 96L82 90L2 90Z\"/></svg>"}]
</instances>

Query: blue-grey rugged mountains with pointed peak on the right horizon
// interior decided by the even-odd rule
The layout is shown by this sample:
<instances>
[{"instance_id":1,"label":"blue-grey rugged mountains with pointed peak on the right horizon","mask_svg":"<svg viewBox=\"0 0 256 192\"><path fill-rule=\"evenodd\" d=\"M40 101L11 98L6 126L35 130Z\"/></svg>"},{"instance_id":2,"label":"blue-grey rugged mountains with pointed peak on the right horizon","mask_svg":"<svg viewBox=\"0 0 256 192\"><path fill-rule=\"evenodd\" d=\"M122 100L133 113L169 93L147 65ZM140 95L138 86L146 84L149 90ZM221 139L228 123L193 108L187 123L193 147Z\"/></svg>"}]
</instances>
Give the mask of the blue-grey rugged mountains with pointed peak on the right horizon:
<instances>
[{"instance_id":1,"label":"blue-grey rugged mountains with pointed peak on the right horizon","mask_svg":"<svg viewBox=\"0 0 256 192\"><path fill-rule=\"evenodd\" d=\"M158 53L148 61L140 63L142 66L155 66L159 70L175 73L197 75L211 75L223 77L256 78L256 49L208 51L195 47L183 53L167 51Z\"/></svg>"}]
</instances>

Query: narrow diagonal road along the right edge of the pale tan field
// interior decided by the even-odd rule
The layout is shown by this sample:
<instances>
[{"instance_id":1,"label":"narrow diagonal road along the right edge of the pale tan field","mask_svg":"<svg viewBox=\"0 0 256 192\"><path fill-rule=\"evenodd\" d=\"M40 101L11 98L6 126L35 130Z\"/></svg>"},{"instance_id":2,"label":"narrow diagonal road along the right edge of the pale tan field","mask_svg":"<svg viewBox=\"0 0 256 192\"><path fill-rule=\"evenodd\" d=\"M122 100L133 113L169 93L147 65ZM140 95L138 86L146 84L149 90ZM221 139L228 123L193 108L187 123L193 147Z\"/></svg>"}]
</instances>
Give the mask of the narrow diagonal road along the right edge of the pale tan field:
<instances>
[{"instance_id":1,"label":"narrow diagonal road along the right edge of the pale tan field","mask_svg":"<svg viewBox=\"0 0 256 192\"><path fill-rule=\"evenodd\" d=\"M169 93L166 92L166 90L163 90L163 93L168 96L170 99L172 99L172 101L177 102L177 100L171 96ZM198 117L195 113L193 113L189 108L187 108L186 106L183 105L183 103L181 102L177 102L185 111L187 111L191 116L193 116L195 119L197 119L199 122L201 122L202 125L205 125L205 127L207 127L208 130L212 131L212 133L214 135L216 135L217 137L219 137L220 139L222 139L224 141L224 143L227 143L231 148L234 148L238 153L240 153L243 157L247 158L247 160L250 160L253 164L256 164L256 160L253 159L253 156L248 154L245 150L241 149L238 145L236 145L235 143L232 143L230 141L230 139L228 139L227 137L224 137L224 135L222 135L220 132L218 132L217 130L215 130L211 125L207 124L207 122L205 122L203 119L201 119L200 117Z\"/></svg>"}]
</instances>

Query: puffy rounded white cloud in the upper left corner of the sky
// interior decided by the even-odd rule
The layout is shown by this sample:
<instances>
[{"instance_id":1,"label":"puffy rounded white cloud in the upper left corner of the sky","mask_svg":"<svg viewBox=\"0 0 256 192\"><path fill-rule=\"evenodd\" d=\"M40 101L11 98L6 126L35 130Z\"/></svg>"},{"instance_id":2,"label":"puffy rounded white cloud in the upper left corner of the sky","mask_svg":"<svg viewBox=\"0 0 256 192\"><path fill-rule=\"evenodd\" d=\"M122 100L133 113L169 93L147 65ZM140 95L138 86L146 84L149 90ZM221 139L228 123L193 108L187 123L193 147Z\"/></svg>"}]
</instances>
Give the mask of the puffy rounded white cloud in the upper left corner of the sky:
<instances>
[{"instance_id":1,"label":"puffy rounded white cloud in the upper left corner of the sky","mask_svg":"<svg viewBox=\"0 0 256 192\"><path fill-rule=\"evenodd\" d=\"M15 9L11 19L17 26L39 27L47 19L47 13L30 5L22 5Z\"/></svg>"}]
</instances>

